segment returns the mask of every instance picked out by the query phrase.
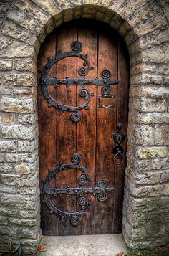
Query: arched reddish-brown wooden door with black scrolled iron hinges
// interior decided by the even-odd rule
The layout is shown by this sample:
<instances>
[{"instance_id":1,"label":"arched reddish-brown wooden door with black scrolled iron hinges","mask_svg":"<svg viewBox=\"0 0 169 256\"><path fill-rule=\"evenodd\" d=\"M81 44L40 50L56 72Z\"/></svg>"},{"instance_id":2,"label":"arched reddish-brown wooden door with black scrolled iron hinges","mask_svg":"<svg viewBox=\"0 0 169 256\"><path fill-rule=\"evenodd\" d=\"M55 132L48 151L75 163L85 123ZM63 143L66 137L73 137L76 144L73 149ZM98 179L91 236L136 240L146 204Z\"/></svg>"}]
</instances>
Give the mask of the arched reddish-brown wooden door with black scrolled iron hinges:
<instances>
[{"instance_id":1,"label":"arched reddish-brown wooden door with black scrolled iron hinges","mask_svg":"<svg viewBox=\"0 0 169 256\"><path fill-rule=\"evenodd\" d=\"M122 39L100 22L64 24L40 49L39 168L45 235L121 232L125 161L118 163L125 158L126 139L120 145L119 127L116 149L124 152L113 153L112 133L118 123L127 132L127 63Z\"/></svg>"}]
</instances>

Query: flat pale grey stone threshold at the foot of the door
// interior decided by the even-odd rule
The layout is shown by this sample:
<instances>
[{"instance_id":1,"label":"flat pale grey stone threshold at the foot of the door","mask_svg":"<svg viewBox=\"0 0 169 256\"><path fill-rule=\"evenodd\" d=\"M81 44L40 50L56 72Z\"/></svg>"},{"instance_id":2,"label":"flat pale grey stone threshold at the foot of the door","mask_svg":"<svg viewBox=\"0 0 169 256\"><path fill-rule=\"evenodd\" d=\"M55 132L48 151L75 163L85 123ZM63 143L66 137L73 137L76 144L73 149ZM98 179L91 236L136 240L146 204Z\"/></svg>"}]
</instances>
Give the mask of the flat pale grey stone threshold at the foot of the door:
<instances>
[{"instance_id":1,"label":"flat pale grey stone threshold at the foot of the door","mask_svg":"<svg viewBox=\"0 0 169 256\"><path fill-rule=\"evenodd\" d=\"M120 252L127 255L122 234L43 237L41 245L45 244L47 247L39 256L114 256Z\"/></svg>"}]
</instances>

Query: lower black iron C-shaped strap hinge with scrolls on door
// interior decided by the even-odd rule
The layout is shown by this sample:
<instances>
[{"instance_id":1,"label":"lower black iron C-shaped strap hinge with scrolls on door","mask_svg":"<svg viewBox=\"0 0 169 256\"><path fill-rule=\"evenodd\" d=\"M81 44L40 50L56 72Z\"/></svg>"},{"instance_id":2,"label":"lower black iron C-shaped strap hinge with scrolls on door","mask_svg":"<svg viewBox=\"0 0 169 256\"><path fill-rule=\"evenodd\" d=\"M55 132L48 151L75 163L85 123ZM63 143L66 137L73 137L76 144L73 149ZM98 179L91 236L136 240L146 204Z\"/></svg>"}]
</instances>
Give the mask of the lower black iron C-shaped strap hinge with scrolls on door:
<instances>
[{"instance_id":1,"label":"lower black iron C-shaped strap hinge with scrolls on door","mask_svg":"<svg viewBox=\"0 0 169 256\"><path fill-rule=\"evenodd\" d=\"M55 213L61 218L70 218L70 223L74 226L80 223L80 217L85 214L91 202L84 194L92 193L97 195L97 199L100 202L104 202L107 199L107 192L115 191L114 187L107 187L107 181L105 179L100 179L97 181L97 186L93 185L92 187L84 188L83 185L87 184L88 181L91 181L91 176L87 174L85 166L79 166L81 161L81 156L79 153L74 153L72 156L72 163L62 163L59 166L55 167L52 170L49 170L49 175L47 179L43 180L43 188L41 189L41 194L43 195L42 202L47 204L50 213ZM58 188L57 186L50 187L50 183L53 179L56 179L57 174L60 171L70 171L70 170L81 171L82 175L78 179L79 187L65 187ZM58 194L79 194L79 199L77 200L79 207L78 212L64 212L63 210L58 209L52 202L51 196L57 196Z\"/></svg>"}]
</instances>

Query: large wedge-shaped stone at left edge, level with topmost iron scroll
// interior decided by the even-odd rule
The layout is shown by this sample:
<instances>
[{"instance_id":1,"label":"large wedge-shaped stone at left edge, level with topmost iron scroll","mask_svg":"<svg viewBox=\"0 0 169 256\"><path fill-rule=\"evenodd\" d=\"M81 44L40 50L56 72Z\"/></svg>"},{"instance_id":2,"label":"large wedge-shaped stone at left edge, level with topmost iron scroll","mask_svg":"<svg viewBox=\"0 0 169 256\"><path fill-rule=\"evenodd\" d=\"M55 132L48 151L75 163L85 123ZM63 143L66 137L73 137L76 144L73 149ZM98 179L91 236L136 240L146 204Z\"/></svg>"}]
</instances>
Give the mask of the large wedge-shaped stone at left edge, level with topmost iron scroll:
<instances>
[{"instance_id":1,"label":"large wedge-shaped stone at left edge, level with topmost iron scroll","mask_svg":"<svg viewBox=\"0 0 169 256\"><path fill-rule=\"evenodd\" d=\"M9 37L0 36L0 54L5 58L34 57L34 47Z\"/></svg>"}]
</instances>

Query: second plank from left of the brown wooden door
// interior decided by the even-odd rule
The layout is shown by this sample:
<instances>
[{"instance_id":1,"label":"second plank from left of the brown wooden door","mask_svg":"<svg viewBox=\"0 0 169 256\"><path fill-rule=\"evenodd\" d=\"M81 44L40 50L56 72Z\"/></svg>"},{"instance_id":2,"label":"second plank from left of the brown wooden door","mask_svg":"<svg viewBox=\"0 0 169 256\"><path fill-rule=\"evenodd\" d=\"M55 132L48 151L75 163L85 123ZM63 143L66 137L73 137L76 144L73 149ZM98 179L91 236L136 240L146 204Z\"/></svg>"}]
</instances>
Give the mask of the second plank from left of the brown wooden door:
<instances>
[{"instance_id":1,"label":"second plank from left of the brown wooden door","mask_svg":"<svg viewBox=\"0 0 169 256\"><path fill-rule=\"evenodd\" d=\"M57 31L57 52L62 50L68 52L71 50L71 43L77 40L77 28L69 25L62 26ZM77 75L77 58L67 57L57 62L57 77L65 78L76 77ZM57 87L57 100L65 105L76 105L76 87L60 85ZM59 113L57 110L57 165L60 162L71 163L72 155L76 151L76 124L70 120L72 113ZM58 187L74 187L76 185L76 171L61 171L57 176ZM61 194L58 196L58 207L64 212L76 212L76 196ZM76 228L73 227L69 218L58 221L59 235L76 234Z\"/></svg>"}]
</instances>

